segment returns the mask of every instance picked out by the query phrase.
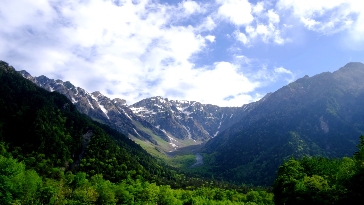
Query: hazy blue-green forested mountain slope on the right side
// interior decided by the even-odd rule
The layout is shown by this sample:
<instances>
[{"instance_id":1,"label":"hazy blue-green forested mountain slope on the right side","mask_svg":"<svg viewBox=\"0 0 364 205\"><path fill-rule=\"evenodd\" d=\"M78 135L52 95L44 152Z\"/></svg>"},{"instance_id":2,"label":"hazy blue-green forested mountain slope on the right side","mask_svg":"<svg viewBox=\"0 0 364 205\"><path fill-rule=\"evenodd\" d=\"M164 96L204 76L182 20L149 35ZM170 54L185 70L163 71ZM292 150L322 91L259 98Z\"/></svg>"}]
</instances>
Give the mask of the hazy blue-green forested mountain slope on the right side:
<instances>
[{"instance_id":1,"label":"hazy blue-green forested mountain slope on the right side","mask_svg":"<svg viewBox=\"0 0 364 205\"><path fill-rule=\"evenodd\" d=\"M207 164L227 180L271 185L291 155L350 157L364 134L363 102L363 63L305 76L207 142Z\"/></svg>"}]
</instances>

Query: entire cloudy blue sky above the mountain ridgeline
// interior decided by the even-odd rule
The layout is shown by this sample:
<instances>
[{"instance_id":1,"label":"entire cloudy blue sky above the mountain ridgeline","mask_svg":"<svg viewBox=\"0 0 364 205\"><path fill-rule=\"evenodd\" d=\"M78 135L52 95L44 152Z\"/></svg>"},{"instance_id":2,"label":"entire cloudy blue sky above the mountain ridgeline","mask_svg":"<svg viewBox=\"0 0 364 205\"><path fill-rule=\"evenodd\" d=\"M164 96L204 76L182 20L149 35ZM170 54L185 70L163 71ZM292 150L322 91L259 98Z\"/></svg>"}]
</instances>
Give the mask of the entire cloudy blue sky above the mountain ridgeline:
<instances>
[{"instance_id":1,"label":"entire cloudy blue sky above the mountain ridgeline","mask_svg":"<svg viewBox=\"0 0 364 205\"><path fill-rule=\"evenodd\" d=\"M128 105L219 106L364 63L362 0L1 0L0 60Z\"/></svg>"}]
</instances>

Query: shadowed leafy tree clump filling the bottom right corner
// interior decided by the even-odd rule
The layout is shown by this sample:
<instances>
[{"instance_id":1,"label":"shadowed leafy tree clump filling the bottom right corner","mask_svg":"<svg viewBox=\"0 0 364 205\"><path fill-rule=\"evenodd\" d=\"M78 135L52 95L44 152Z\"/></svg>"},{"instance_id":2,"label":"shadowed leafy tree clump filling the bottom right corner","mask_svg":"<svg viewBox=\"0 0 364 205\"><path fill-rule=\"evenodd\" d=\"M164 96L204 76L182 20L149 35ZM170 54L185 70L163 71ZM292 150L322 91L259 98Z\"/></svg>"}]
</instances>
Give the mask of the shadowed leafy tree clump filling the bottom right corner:
<instances>
[{"instance_id":1,"label":"shadowed leafy tree clump filling the bottom right corner","mask_svg":"<svg viewBox=\"0 0 364 205\"><path fill-rule=\"evenodd\" d=\"M351 204L363 197L364 137L352 158L291 158L274 182L276 204Z\"/></svg>"}]
</instances>

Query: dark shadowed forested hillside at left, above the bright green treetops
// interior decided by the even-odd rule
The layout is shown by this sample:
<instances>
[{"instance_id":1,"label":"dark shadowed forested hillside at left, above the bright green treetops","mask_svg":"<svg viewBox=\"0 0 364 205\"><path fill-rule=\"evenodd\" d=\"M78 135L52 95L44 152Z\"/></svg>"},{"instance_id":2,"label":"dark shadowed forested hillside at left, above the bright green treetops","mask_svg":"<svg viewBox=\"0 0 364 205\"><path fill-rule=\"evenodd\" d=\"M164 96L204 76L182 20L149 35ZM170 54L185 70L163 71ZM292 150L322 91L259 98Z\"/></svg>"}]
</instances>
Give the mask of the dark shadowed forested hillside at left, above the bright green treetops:
<instances>
[{"instance_id":1,"label":"dark shadowed forested hillside at left, above the bright green treetops","mask_svg":"<svg viewBox=\"0 0 364 205\"><path fill-rule=\"evenodd\" d=\"M1 146L41 175L53 174L51 167L102 173L114 182L173 175L125 135L81 115L63 94L39 88L3 61L0 82Z\"/></svg>"}]
</instances>

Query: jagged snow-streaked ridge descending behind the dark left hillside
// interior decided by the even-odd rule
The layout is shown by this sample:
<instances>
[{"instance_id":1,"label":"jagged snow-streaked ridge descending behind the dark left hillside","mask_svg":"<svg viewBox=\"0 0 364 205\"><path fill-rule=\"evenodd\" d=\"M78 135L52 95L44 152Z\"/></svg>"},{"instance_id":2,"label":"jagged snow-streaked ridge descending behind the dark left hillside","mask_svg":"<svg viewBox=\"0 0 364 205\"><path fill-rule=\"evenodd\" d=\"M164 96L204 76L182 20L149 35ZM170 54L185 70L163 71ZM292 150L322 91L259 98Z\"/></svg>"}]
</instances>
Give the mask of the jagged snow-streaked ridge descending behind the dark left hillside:
<instances>
[{"instance_id":1,"label":"jagged snow-streaked ridge descending behind the dark left hillside","mask_svg":"<svg viewBox=\"0 0 364 205\"><path fill-rule=\"evenodd\" d=\"M54 80L46 76L32 77L27 71L18 71L24 78L50 92L57 91L67 96L76 105L81 113L85 113L92 119L110 125L112 128L126 134L133 135L141 140L149 140L157 144L157 141L142 129L135 125L135 121L141 123L153 134L170 142L170 139L160 129L151 126L147 121L134 115L128 108L126 101L120 98L110 99L100 92L88 93L86 90L76 87L71 82Z\"/></svg>"}]
</instances>

